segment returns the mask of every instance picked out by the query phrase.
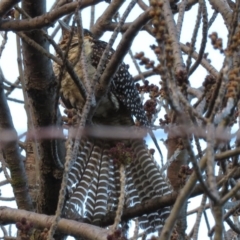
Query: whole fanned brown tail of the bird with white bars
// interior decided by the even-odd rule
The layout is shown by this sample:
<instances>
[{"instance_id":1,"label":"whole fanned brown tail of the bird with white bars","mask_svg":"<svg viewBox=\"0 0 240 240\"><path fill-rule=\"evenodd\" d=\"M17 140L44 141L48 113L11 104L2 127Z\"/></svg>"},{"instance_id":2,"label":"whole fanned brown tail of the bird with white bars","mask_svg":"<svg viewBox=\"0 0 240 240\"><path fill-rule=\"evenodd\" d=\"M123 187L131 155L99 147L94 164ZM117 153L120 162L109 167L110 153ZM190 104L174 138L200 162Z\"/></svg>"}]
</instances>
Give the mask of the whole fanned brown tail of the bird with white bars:
<instances>
[{"instance_id":1,"label":"whole fanned brown tail of the bird with white bars","mask_svg":"<svg viewBox=\"0 0 240 240\"><path fill-rule=\"evenodd\" d=\"M113 145L113 143L112 143ZM119 166L108 151L107 140L85 139L79 147L76 163L70 173L65 217L99 224L109 211L116 211L120 194ZM135 159L126 166L125 206L135 206L146 200L170 193L166 180L150 157L142 140L131 142ZM139 218L146 232L161 229L170 208Z\"/></svg>"}]
</instances>

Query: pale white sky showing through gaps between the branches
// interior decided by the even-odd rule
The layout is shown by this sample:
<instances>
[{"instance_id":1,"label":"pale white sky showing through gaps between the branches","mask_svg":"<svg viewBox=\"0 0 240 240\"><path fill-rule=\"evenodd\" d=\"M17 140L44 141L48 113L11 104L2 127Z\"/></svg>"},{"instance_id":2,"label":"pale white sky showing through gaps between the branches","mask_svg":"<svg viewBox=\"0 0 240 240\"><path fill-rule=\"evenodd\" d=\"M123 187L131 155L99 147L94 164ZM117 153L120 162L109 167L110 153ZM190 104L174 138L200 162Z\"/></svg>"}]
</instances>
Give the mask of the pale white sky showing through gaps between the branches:
<instances>
[{"instance_id":1,"label":"pale white sky showing through gaps between the branches","mask_svg":"<svg viewBox=\"0 0 240 240\"><path fill-rule=\"evenodd\" d=\"M52 4L52 0L47 1L48 3L48 8L49 6L51 6ZM122 9L126 9L126 6L128 5L129 1L125 1L124 3L124 7L122 7ZM103 12L103 9L106 8L108 4L103 2L98 4L97 6L97 10L96 10L96 18L98 16L101 15L101 13ZM209 13L208 13L208 19L211 17L212 15L212 9L211 7L208 7ZM134 8L134 11L130 14L130 16L127 18L127 21L131 21L134 20L136 18L136 16L139 15L139 12L142 12L142 10L139 9L138 6L136 6ZM82 11L82 19L83 19L83 26L84 28L89 28L89 14L90 14L90 9L85 9ZM122 11L120 12L120 14L122 14ZM183 23L183 31L181 34L181 42L182 43L186 43L186 42L190 42L191 41L191 34L193 32L193 28L194 28L194 24L196 21L196 16L197 16L197 7L194 6L190 11L186 12L185 14L185 18L184 18L184 23ZM177 15L175 16L175 20L177 19ZM49 29L49 32L51 32L52 29ZM201 41L201 32L202 30L199 29L199 35L200 37L197 40L197 50L199 49L199 44ZM218 32L219 37L223 38L223 47L226 48L226 44L227 44L227 39L224 36L227 36L227 30L226 27L224 25L224 22L221 18L220 15L218 15L216 21L214 22L214 24L212 25L209 33L212 32ZM60 34L57 36L57 38L59 38ZM104 34L104 36L102 37L102 40L108 41L108 39L110 38L111 33L106 33ZM132 52L133 54L135 54L136 52L140 52L142 50L144 50L145 54L147 57L149 57L150 59L156 59L154 53L152 52L152 50L150 49L150 45L155 44L155 40L150 37L149 35L145 34L144 32L140 33L139 38L137 38L132 45ZM116 43L114 44L114 47L116 47L117 43L119 42L119 40L121 39L121 34L119 34L119 37L116 40ZM1 44L1 37L0 37L0 44ZM144 45L146 44L146 45ZM144 45L144 49L143 49L143 45ZM52 51L52 50L51 50ZM209 52L209 57L212 60L212 65L217 69L221 69L222 67L222 62L223 62L223 55L219 53L218 50L213 50L210 41L208 39L208 43L207 43L207 47L206 47L206 52ZM137 74L137 70L135 69L134 65L132 64L132 61L130 59L129 56L125 57L124 60L126 63L128 63L130 65L130 72L132 75L136 75ZM3 51L2 57L0 59L0 66L3 70L4 76L8 81L14 82L17 77L18 77L18 68L17 68L17 55L16 55L16 37L15 34L13 34L12 32L8 33L8 42L7 45ZM142 69L144 70L144 69ZM197 69L197 71L195 71L195 73L191 76L190 81L192 83L193 87L200 87L202 85L202 80L204 79L204 77L207 75L207 72L205 69L203 69L202 67L199 67ZM148 80L150 80L152 83L158 83L159 82L159 77L151 77L148 78ZM22 97L22 93L20 90L15 90L10 97L12 98L17 98L17 99L23 99ZM17 129L18 133L21 134L23 132L26 131L26 114L25 114L25 110L24 110L24 106L22 104L18 104L18 103L14 103L14 102L10 102L9 101L9 106L11 109L11 113L12 113L12 118L13 118L13 122L14 122L14 126ZM163 113L162 113L163 115ZM157 139L161 139L164 138L166 139L166 136L163 134L163 131L159 130L159 132L157 133ZM153 147L153 144L151 143L151 141L147 141L150 147ZM166 149L164 147L163 144L161 144L161 149L163 151L164 156L166 156ZM157 155L156 155L157 157ZM166 160L166 159L165 159ZM2 196L12 196L11 191L9 190L9 187L3 187L1 188L1 192L2 192ZM196 208L197 206L199 206L199 203L201 201L201 198L194 198L194 199L190 199L189 200L189 208L188 209L193 209ZM7 205L4 203L0 203L0 205ZM8 203L11 206L12 203ZM189 217L189 221L188 221L188 231L190 231L190 229L192 228L192 224L195 222L195 217L196 215L192 215L191 217ZM205 233L204 235L202 235L203 237L206 236L206 227L205 227L205 222L202 221L201 222L201 231L203 231L202 233ZM199 238L201 237L201 233ZM201 239L201 238L200 238Z\"/></svg>"}]
</instances>

